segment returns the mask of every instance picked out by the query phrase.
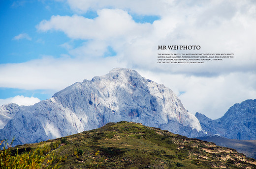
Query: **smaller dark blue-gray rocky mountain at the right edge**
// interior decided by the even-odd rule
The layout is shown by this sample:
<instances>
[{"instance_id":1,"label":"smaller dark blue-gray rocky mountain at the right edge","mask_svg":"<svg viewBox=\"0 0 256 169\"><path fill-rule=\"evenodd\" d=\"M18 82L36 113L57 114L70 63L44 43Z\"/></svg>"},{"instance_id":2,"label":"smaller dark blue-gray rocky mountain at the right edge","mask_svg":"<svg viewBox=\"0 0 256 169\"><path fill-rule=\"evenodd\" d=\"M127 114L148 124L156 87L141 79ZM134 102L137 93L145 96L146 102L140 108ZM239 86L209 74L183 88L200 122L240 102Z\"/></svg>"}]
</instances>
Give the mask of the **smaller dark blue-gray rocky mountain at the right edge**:
<instances>
[{"instance_id":1,"label":"smaller dark blue-gray rocky mountain at the right edge","mask_svg":"<svg viewBox=\"0 0 256 169\"><path fill-rule=\"evenodd\" d=\"M207 135L219 135L229 139L256 140L256 99L234 104L217 120L196 113Z\"/></svg>"}]
</instances>

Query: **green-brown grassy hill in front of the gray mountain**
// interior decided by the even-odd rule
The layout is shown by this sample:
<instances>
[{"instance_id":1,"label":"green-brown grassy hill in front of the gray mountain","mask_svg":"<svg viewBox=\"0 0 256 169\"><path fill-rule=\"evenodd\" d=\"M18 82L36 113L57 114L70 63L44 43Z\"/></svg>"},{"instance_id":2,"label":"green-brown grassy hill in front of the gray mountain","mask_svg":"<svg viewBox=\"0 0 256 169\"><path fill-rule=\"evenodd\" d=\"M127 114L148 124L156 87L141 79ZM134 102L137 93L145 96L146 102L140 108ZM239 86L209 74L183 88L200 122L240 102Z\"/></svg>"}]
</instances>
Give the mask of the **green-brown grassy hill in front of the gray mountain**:
<instances>
[{"instance_id":1,"label":"green-brown grassy hill in front of the gray mountain","mask_svg":"<svg viewBox=\"0 0 256 169\"><path fill-rule=\"evenodd\" d=\"M27 151L38 145L55 154L61 169L256 168L256 160L234 149L126 121L16 148Z\"/></svg>"}]
</instances>

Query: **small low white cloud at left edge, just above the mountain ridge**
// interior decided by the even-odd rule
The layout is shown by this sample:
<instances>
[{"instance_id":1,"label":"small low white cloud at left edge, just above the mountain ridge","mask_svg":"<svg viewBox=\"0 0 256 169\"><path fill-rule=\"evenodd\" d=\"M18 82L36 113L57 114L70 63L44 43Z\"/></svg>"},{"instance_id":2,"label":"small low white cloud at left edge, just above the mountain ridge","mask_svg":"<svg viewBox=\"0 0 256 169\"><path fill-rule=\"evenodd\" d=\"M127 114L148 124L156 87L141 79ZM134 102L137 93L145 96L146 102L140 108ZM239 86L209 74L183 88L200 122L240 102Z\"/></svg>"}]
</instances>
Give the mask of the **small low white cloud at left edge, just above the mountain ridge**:
<instances>
[{"instance_id":1,"label":"small low white cloud at left edge, just above the mountain ridge","mask_svg":"<svg viewBox=\"0 0 256 169\"><path fill-rule=\"evenodd\" d=\"M18 105L29 106L39 102L40 99L37 97L24 97L24 96L15 96L9 97L5 99L0 99L0 105L8 104L8 103L16 103Z\"/></svg>"}]
</instances>

